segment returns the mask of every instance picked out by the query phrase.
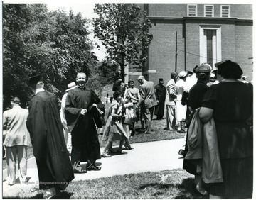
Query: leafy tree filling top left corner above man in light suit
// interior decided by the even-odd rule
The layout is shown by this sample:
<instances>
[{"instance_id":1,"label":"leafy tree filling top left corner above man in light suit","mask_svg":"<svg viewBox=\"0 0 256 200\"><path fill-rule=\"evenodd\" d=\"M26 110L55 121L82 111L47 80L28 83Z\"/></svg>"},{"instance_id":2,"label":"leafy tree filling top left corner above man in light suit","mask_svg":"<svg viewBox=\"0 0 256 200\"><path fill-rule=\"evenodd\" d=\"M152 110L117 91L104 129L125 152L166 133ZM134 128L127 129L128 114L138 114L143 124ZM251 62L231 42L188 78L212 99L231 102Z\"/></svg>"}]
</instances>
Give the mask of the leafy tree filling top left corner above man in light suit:
<instances>
[{"instance_id":1,"label":"leafy tree filling top left corner above man in light suit","mask_svg":"<svg viewBox=\"0 0 256 200\"><path fill-rule=\"evenodd\" d=\"M23 104L28 100L31 92L26 82L32 66L48 63L46 11L43 4L3 4L4 108L12 96L19 96Z\"/></svg>"}]
</instances>

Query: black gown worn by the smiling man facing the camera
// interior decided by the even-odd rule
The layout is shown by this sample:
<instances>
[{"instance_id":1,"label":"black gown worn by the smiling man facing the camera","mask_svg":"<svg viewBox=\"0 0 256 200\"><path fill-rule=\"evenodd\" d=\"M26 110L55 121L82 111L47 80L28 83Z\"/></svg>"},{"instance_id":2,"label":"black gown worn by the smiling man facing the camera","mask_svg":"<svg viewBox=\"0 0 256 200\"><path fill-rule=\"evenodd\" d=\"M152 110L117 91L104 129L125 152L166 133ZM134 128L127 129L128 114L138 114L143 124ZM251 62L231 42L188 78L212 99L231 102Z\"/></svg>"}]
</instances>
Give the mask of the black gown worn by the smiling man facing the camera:
<instances>
[{"instance_id":1,"label":"black gown worn by the smiling man facing the camera","mask_svg":"<svg viewBox=\"0 0 256 200\"><path fill-rule=\"evenodd\" d=\"M68 130L72 135L72 164L78 161L100 159L100 143L94 120L97 109L95 106L92 107L92 104L103 108L102 102L94 91L86 88L80 89L80 87L68 91L65 117ZM82 109L87 109L85 115L80 114Z\"/></svg>"}]
</instances>

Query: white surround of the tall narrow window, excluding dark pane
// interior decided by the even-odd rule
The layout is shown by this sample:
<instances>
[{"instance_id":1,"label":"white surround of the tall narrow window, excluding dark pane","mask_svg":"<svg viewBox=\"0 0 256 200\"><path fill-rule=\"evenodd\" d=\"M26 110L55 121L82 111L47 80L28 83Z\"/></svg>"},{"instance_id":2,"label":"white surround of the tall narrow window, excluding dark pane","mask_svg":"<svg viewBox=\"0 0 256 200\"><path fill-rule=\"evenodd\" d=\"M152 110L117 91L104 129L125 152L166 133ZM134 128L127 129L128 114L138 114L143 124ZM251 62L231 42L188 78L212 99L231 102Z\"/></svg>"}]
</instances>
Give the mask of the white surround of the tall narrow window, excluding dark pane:
<instances>
[{"instance_id":1,"label":"white surround of the tall narrow window, excluding dark pane","mask_svg":"<svg viewBox=\"0 0 256 200\"><path fill-rule=\"evenodd\" d=\"M204 36L204 30L216 30L216 36L213 38L213 70L214 64L222 60L221 54L221 26L220 25L200 25L199 26L199 38L200 38L200 63L207 62L206 51L206 37Z\"/></svg>"}]
</instances>

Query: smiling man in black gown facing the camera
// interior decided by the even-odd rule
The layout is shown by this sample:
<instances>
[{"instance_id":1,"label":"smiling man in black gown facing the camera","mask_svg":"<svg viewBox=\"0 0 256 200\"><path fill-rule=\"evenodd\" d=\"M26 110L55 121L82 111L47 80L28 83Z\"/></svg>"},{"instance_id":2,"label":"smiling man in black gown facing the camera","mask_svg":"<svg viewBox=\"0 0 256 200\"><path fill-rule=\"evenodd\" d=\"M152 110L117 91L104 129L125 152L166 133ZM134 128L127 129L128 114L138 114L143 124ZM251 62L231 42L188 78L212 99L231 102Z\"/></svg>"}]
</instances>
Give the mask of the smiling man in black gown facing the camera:
<instances>
[{"instance_id":1,"label":"smiling man in black gown facing the camera","mask_svg":"<svg viewBox=\"0 0 256 200\"><path fill-rule=\"evenodd\" d=\"M85 73L77 74L78 87L68 91L65 104L65 117L72 135L71 163L74 173L86 173L80 162L87 162L87 170L100 170L95 165L96 160L100 159L95 123L98 128L102 127L97 107L102 109L104 106L95 92L85 87L85 79Z\"/></svg>"}]
</instances>

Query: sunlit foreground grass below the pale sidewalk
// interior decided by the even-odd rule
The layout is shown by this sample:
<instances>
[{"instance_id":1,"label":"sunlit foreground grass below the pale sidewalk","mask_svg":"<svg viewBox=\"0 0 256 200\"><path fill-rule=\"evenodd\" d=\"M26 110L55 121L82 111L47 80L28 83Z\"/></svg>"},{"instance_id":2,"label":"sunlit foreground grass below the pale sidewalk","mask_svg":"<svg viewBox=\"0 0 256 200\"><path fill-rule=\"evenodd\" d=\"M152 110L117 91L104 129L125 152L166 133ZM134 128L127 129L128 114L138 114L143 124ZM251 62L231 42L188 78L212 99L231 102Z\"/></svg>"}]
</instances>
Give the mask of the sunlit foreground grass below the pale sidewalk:
<instances>
[{"instance_id":1,"label":"sunlit foreground grass below the pale sidewalk","mask_svg":"<svg viewBox=\"0 0 256 200\"><path fill-rule=\"evenodd\" d=\"M41 199L37 186L27 185L18 199ZM208 199L193 187L193 176L181 169L143 172L71 182L62 199Z\"/></svg>"}]
</instances>

